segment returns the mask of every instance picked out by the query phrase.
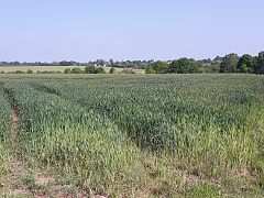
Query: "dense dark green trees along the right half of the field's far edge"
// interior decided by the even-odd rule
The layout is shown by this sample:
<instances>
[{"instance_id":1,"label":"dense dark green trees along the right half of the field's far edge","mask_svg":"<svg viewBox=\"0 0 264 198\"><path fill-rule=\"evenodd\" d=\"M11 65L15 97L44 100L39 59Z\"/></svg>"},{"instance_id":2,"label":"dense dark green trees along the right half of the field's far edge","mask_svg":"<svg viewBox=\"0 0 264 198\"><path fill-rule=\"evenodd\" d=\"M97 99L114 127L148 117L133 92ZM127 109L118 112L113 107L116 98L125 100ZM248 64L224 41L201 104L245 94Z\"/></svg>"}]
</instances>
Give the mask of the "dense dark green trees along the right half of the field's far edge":
<instances>
[{"instance_id":1,"label":"dense dark green trees along the right half of the field's far edge","mask_svg":"<svg viewBox=\"0 0 264 198\"><path fill-rule=\"evenodd\" d=\"M154 62L146 68L146 74L196 74L196 73L250 73L264 74L264 52L258 56L231 53L224 57L216 57L213 61L195 61L183 57L169 62Z\"/></svg>"}]
</instances>

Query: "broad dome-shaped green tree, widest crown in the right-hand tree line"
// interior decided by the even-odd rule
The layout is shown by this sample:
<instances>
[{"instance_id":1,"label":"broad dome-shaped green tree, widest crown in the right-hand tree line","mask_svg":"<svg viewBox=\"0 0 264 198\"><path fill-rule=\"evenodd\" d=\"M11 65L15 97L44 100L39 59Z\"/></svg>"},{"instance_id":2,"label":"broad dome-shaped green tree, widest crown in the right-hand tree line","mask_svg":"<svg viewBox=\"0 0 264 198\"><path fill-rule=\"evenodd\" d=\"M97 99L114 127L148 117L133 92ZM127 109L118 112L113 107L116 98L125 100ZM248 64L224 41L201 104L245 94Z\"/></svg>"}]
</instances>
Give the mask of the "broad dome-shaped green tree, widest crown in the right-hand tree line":
<instances>
[{"instance_id":1,"label":"broad dome-shaped green tree, widest crown in the right-hand tree line","mask_svg":"<svg viewBox=\"0 0 264 198\"><path fill-rule=\"evenodd\" d=\"M199 73L199 67L194 59L184 57L172 62L172 64L168 67L168 73L175 74Z\"/></svg>"}]
</instances>

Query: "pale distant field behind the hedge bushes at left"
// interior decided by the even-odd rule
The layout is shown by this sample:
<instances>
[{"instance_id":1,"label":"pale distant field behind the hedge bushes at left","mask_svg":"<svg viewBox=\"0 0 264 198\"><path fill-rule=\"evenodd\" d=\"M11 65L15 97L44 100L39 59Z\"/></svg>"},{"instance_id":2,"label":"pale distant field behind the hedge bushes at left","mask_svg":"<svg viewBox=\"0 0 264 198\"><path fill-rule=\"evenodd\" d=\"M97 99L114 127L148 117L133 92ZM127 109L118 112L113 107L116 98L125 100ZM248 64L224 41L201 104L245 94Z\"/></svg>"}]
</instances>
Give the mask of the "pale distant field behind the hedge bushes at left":
<instances>
[{"instance_id":1,"label":"pale distant field behind the hedge bushes at left","mask_svg":"<svg viewBox=\"0 0 264 198\"><path fill-rule=\"evenodd\" d=\"M64 73L66 68L81 68L85 69L85 66L0 66L0 73L14 73L15 70L21 70L26 73L29 69L33 70L33 73L37 72L59 72ZM111 67L103 67L107 73L110 72ZM123 68L116 68L117 72L122 72ZM144 69L134 69L134 72L142 73Z\"/></svg>"}]
</instances>

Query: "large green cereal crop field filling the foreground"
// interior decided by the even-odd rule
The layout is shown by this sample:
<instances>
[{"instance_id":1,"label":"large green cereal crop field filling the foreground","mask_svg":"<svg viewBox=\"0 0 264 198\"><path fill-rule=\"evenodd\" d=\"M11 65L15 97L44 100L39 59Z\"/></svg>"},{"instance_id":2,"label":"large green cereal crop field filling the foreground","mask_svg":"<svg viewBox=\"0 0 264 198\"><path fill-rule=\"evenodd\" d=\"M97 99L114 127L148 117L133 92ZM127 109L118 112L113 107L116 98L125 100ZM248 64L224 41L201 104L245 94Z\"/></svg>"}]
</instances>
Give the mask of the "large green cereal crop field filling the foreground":
<instances>
[{"instance_id":1,"label":"large green cereal crop field filling the foreground","mask_svg":"<svg viewBox=\"0 0 264 198\"><path fill-rule=\"evenodd\" d=\"M7 195L20 162L79 197L264 196L264 76L0 75L0 107Z\"/></svg>"}]
</instances>

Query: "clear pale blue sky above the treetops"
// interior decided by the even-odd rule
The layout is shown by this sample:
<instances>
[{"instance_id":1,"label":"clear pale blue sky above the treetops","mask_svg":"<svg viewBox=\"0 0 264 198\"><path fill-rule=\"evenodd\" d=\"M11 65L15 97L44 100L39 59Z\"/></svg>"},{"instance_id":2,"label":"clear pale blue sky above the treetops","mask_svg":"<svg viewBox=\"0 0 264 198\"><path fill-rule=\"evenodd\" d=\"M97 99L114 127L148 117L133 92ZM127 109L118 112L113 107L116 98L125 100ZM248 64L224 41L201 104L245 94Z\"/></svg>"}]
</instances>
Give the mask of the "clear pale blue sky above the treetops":
<instances>
[{"instance_id":1,"label":"clear pale blue sky above the treetops","mask_svg":"<svg viewBox=\"0 0 264 198\"><path fill-rule=\"evenodd\" d=\"M0 61L257 55L263 9L263 0L0 0Z\"/></svg>"}]
</instances>

